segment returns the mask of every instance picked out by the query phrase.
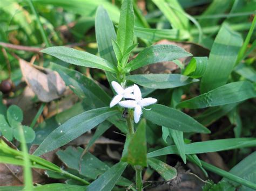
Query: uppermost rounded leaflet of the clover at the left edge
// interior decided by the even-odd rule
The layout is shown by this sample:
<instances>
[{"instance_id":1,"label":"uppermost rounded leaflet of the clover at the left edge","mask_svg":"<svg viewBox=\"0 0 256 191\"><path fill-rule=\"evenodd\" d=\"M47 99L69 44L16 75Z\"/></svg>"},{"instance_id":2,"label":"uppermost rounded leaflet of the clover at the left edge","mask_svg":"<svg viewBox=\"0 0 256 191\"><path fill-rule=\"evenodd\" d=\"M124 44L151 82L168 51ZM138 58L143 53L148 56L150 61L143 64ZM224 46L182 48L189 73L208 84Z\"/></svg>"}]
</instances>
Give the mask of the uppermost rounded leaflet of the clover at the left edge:
<instances>
[{"instance_id":1,"label":"uppermost rounded leaflet of the clover at the left edge","mask_svg":"<svg viewBox=\"0 0 256 191\"><path fill-rule=\"evenodd\" d=\"M23 121L23 112L17 105L11 105L7 110L7 119L12 128Z\"/></svg>"}]
</instances>

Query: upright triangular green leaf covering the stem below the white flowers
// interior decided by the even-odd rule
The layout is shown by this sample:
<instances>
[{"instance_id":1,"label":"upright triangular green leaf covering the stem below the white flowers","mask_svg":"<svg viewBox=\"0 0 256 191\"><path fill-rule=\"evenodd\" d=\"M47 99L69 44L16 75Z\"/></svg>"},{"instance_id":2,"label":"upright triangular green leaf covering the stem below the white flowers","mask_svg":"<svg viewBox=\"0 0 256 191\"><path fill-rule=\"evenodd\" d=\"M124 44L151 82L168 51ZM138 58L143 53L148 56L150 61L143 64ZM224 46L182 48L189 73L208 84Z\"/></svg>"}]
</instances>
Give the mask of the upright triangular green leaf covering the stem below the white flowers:
<instances>
[{"instance_id":1,"label":"upright triangular green leaf covering the stem below the white flowers","mask_svg":"<svg viewBox=\"0 0 256 191\"><path fill-rule=\"evenodd\" d=\"M147 166L146 121L142 119L134 135L130 138L127 152L122 161L131 165Z\"/></svg>"}]
</instances>

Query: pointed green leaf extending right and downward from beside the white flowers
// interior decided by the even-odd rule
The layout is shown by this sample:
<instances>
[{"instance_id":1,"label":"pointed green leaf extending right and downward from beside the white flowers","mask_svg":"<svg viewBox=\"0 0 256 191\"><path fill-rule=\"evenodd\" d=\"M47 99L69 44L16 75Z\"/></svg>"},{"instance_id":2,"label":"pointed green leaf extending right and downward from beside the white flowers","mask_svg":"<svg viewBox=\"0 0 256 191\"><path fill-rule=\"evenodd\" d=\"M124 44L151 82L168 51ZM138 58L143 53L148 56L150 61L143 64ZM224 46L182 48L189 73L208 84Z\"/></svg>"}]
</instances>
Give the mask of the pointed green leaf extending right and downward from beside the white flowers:
<instances>
[{"instance_id":1,"label":"pointed green leaf extending right and downward from beside the white flowers","mask_svg":"<svg viewBox=\"0 0 256 191\"><path fill-rule=\"evenodd\" d=\"M160 126L171 128L183 132L210 133L210 130L198 123L192 117L183 112L166 107L164 105L153 104L151 110L143 110L143 116Z\"/></svg>"}]
</instances>

